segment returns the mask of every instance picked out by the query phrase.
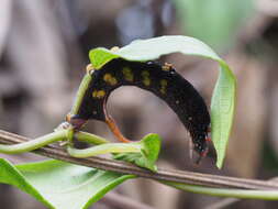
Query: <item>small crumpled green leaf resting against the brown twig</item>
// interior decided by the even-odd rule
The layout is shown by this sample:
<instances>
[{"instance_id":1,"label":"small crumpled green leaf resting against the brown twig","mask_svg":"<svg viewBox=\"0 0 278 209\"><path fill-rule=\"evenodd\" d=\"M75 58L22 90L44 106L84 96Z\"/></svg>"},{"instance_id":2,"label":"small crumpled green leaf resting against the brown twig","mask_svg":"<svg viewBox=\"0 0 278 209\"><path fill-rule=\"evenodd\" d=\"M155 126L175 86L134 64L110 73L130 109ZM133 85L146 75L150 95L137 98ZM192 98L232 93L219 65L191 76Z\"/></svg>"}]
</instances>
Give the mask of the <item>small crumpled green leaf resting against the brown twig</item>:
<instances>
[{"instance_id":1,"label":"small crumpled green leaf resting against the brown twig","mask_svg":"<svg viewBox=\"0 0 278 209\"><path fill-rule=\"evenodd\" d=\"M142 145L141 153L120 153L114 155L114 160L134 163L140 167L157 170L155 162L160 151L160 136L155 133L147 134L138 144Z\"/></svg>"}]
</instances>

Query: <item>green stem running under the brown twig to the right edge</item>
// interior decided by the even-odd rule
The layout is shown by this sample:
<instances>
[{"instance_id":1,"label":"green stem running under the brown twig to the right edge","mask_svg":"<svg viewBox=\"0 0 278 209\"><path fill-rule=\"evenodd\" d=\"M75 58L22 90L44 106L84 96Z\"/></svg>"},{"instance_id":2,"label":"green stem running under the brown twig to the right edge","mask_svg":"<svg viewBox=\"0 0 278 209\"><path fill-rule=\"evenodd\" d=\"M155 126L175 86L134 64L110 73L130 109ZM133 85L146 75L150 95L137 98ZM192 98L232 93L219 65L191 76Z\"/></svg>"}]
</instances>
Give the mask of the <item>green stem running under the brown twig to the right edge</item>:
<instances>
[{"instance_id":1,"label":"green stem running under the brown twig to the right edge","mask_svg":"<svg viewBox=\"0 0 278 209\"><path fill-rule=\"evenodd\" d=\"M210 187L203 187L203 186L186 185L186 184L167 182L167 180L160 180L160 183L175 187L180 190L186 190L186 191L202 194L202 195L216 196L216 197L278 200L278 190L222 189L222 188L210 188Z\"/></svg>"}]
</instances>

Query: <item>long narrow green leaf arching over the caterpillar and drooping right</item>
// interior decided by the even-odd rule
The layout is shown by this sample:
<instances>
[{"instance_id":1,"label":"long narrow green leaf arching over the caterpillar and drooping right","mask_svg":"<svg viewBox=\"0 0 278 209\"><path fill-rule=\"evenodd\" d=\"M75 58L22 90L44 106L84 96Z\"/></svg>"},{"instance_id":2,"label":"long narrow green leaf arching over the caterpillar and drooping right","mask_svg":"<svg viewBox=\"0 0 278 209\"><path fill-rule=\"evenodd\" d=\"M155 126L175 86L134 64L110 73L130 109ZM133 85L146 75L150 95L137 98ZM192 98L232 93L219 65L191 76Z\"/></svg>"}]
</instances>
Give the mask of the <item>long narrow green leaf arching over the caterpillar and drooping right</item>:
<instances>
[{"instance_id":1,"label":"long narrow green leaf arching over the caterpillar and drooping right","mask_svg":"<svg viewBox=\"0 0 278 209\"><path fill-rule=\"evenodd\" d=\"M211 121L212 141L218 153L216 166L221 168L233 123L236 79L225 62L208 45L188 36L160 36L134 41L116 52L103 47L94 48L90 51L89 56L93 67L100 69L105 63L116 57L134 62L146 62L170 53L202 56L220 64L220 74L211 101Z\"/></svg>"}]
</instances>

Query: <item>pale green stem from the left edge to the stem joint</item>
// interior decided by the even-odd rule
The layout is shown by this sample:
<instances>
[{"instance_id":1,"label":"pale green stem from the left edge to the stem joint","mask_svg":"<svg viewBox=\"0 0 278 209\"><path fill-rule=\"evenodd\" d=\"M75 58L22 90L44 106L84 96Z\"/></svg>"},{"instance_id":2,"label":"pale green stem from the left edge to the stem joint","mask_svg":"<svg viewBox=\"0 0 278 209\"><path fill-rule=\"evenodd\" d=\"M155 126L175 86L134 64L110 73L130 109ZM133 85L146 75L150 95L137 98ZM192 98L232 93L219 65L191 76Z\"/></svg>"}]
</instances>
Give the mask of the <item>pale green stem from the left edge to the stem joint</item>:
<instances>
[{"instance_id":1,"label":"pale green stem from the left edge to the stem joint","mask_svg":"<svg viewBox=\"0 0 278 209\"><path fill-rule=\"evenodd\" d=\"M66 138L67 138L67 130L62 130L20 144L12 144L12 145L0 144L0 153L5 154L24 153L40 148L53 142L65 140Z\"/></svg>"}]
</instances>

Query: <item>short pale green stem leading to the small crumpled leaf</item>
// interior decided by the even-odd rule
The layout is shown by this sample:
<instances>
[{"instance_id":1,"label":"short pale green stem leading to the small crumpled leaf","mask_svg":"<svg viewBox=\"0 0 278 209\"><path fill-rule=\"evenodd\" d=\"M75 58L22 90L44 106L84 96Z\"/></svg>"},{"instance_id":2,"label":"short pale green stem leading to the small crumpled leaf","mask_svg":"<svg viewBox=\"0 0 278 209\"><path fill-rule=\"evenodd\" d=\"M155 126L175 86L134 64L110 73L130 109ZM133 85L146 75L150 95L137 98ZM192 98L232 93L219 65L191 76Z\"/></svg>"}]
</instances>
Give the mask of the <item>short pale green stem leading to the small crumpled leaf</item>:
<instances>
[{"instance_id":1,"label":"short pale green stem leading to the small crumpled leaf","mask_svg":"<svg viewBox=\"0 0 278 209\"><path fill-rule=\"evenodd\" d=\"M67 152L74 157L82 158L107 153L140 153L141 145L138 143L108 143L84 150L75 148L69 145Z\"/></svg>"}]
</instances>

